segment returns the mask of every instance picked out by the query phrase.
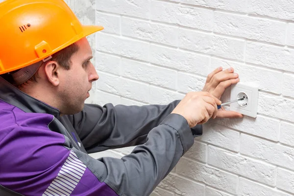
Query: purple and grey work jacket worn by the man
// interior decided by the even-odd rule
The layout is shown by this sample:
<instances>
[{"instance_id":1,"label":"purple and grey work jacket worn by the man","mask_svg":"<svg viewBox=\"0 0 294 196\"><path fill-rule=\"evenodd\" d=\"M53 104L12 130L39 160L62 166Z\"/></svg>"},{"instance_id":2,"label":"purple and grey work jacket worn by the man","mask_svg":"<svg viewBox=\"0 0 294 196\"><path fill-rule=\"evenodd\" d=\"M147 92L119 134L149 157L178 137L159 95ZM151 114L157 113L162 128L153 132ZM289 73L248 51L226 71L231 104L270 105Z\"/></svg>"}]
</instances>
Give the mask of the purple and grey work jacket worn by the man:
<instances>
[{"instance_id":1,"label":"purple and grey work jacket worn by the man","mask_svg":"<svg viewBox=\"0 0 294 196\"><path fill-rule=\"evenodd\" d=\"M202 134L171 114L178 103L60 117L0 77L0 196L148 196ZM88 155L129 146L121 159Z\"/></svg>"}]
</instances>

